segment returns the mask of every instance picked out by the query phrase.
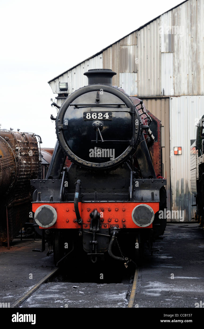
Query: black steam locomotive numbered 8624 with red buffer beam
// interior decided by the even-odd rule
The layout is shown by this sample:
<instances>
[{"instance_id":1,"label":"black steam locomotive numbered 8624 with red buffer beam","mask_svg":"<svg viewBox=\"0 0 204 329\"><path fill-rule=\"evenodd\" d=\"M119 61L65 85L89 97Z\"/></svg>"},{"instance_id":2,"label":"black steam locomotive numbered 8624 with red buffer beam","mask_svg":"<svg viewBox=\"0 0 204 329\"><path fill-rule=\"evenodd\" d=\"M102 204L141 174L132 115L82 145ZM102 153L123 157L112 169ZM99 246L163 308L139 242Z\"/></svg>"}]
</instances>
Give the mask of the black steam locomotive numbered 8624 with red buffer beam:
<instances>
[{"instance_id":1,"label":"black steam locomotive numbered 8624 with red buffer beam","mask_svg":"<svg viewBox=\"0 0 204 329\"><path fill-rule=\"evenodd\" d=\"M56 266L75 252L92 263L112 257L127 267L144 246L152 250L166 227L159 218L166 208L161 122L142 100L112 86L115 74L84 73L88 86L51 116L57 142L46 179L31 180L41 251L48 242Z\"/></svg>"}]
</instances>

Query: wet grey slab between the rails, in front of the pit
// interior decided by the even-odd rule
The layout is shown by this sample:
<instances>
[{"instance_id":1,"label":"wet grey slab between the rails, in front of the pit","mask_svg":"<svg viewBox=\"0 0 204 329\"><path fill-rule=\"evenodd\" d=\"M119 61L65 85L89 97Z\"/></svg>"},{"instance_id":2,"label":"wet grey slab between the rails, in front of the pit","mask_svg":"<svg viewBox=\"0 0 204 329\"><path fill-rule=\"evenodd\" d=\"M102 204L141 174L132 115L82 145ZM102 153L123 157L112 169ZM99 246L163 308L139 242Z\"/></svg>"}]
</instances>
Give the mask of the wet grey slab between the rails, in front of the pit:
<instances>
[{"instance_id":1,"label":"wet grey slab between the rails, in front of the pit","mask_svg":"<svg viewBox=\"0 0 204 329\"><path fill-rule=\"evenodd\" d=\"M129 284L46 283L22 307L126 307Z\"/></svg>"}]
</instances>

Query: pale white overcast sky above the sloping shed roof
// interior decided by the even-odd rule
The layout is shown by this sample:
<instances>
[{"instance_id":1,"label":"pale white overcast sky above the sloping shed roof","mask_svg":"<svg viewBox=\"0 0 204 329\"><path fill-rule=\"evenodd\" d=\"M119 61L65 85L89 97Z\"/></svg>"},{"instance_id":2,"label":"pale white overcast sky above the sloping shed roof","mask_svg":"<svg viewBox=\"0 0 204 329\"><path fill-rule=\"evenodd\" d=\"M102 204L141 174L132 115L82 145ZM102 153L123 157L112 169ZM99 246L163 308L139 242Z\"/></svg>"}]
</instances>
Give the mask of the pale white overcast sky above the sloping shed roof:
<instances>
[{"instance_id":1,"label":"pale white overcast sky above the sloping shed roof","mask_svg":"<svg viewBox=\"0 0 204 329\"><path fill-rule=\"evenodd\" d=\"M54 147L48 81L178 5L179 0L0 0L1 128Z\"/></svg>"}]
</instances>

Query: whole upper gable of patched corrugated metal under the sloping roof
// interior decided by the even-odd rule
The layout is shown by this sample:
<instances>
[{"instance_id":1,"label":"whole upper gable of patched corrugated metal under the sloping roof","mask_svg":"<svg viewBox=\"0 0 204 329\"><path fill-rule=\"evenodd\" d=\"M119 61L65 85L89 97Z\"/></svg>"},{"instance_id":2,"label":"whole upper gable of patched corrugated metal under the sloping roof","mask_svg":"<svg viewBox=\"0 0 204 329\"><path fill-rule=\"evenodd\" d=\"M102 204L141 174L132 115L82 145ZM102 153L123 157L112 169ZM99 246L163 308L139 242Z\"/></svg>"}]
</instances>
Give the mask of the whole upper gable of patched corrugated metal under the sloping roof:
<instances>
[{"instance_id":1,"label":"whole upper gable of patched corrugated metal under the sloping roof","mask_svg":"<svg viewBox=\"0 0 204 329\"><path fill-rule=\"evenodd\" d=\"M111 68L113 85L125 82L129 95L204 94L204 0L183 3L65 72L50 82L53 92L59 80L68 82L69 94L87 84L90 68Z\"/></svg>"}]
</instances>

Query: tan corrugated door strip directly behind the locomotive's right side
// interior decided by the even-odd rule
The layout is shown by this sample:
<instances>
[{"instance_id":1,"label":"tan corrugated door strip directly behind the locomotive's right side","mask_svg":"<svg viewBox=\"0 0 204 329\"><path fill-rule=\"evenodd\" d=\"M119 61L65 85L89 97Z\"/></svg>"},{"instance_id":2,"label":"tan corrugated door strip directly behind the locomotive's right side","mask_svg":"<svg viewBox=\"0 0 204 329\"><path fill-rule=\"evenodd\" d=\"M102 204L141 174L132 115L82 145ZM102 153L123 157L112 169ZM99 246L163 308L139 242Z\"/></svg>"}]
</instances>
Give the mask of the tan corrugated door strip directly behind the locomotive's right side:
<instances>
[{"instance_id":1,"label":"tan corrugated door strip directly behind the locomotive's right side","mask_svg":"<svg viewBox=\"0 0 204 329\"><path fill-rule=\"evenodd\" d=\"M169 130L169 98L142 98L146 109L161 120L162 140L165 147L162 149L164 177L167 180L167 209L171 210L171 182L170 182L170 130Z\"/></svg>"}]
</instances>

